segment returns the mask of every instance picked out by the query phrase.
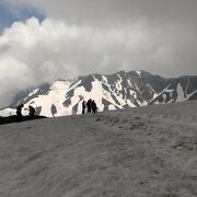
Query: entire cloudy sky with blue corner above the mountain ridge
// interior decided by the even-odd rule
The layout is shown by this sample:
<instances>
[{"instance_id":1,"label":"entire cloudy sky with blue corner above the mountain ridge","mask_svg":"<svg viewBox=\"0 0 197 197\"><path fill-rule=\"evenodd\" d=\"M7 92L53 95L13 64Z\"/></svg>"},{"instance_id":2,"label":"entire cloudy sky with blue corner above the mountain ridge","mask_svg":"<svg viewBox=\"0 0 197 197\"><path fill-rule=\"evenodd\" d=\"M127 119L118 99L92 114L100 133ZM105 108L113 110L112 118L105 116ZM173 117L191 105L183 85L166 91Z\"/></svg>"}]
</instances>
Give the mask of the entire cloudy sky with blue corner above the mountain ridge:
<instances>
[{"instance_id":1,"label":"entire cloudy sky with blue corner above the mountain ridge","mask_svg":"<svg viewBox=\"0 0 197 197\"><path fill-rule=\"evenodd\" d=\"M0 0L0 107L58 79L197 74L196 0Z\"/></svg>"}]
</instances>

